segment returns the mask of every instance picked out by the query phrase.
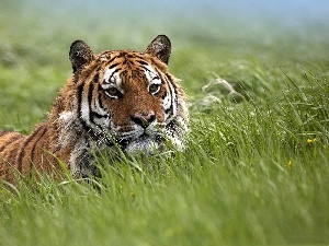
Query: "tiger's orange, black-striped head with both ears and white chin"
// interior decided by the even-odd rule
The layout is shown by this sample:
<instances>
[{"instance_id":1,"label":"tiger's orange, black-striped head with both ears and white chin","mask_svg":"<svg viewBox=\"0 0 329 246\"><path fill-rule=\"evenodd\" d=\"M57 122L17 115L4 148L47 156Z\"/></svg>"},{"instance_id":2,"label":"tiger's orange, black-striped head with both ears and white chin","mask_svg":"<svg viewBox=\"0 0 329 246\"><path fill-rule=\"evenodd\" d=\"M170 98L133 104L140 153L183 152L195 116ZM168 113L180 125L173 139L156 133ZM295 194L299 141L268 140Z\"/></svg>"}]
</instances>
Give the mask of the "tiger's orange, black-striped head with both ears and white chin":
<instances>
[{"instance_id":1,"label":"tiger's orange, black-striped head with both ears and white chin","mask_svg":"<svg viewBox=\"0 0 329 246\"><path fill-rule=\"evenodd\" d=\"M116 143L129 153L152 153L167 140L182 147L188 109L179 80L168 71L170 52L164 35L145 52L95 55L82 40L71 45L77 114L95 142Z\"/></svg>"}]
</instances>

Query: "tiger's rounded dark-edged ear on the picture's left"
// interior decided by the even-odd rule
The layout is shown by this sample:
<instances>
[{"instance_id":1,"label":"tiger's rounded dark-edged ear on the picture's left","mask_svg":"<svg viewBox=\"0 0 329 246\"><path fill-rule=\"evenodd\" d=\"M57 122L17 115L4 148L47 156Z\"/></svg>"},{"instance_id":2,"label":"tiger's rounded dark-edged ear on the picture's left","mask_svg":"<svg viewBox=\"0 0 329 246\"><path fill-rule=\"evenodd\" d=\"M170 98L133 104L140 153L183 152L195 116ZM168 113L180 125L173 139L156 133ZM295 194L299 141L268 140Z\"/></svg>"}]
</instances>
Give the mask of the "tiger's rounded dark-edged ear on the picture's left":
<instances>
[{"instance_id":1,"label":"tiger's rounded dark-edged ear on the picture's left","mask_svg":"<svg viewBox=\"0 0 329 246\"><path fill-rule=\"evenodd\" d=\"M69 58L73 72L77 72L93 60L94 54L84 42L76 40L71 44Z\"/></svg>"}]
</instances>

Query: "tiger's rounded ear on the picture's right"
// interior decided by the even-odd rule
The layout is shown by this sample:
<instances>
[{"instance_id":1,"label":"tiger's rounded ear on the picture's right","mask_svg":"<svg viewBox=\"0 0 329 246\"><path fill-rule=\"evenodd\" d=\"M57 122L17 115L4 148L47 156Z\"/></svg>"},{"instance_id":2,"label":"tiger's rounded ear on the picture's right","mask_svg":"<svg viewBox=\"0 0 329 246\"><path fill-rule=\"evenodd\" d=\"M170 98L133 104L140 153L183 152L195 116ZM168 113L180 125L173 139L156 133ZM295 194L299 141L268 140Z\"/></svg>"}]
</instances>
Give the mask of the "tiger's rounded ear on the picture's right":
<instances>
[{"instance_id":1,"label":"tiger's rounded ear on the picture's right","mask_svg":"<svg viewBox=\"0 0 329 246\"><path fill-rule=\"evenodd\" d=\"M169 57L171 54L171 43L170 39L166 35L159 35L157 36L147 47L146 51L147 54L150 54L158 59L160 59L162 62L168 65Z\"/></svg>"}]
</instances>

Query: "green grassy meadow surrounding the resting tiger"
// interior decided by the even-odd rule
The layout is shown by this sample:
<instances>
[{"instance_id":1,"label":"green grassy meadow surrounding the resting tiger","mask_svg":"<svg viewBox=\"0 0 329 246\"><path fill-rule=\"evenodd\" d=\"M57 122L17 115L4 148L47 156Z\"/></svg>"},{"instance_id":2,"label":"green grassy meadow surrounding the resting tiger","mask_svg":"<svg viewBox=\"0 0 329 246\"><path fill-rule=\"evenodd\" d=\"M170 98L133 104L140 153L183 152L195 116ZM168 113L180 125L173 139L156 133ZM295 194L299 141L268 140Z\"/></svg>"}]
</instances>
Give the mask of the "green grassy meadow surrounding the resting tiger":
<instances>
[{"instance_id":1,"label":"green grassy meadow surrounding the resting tiger","mask_svg":"<svg viewBox=\"0 0 329 246\"><path fill-rule=\"evenodd\" d=\"M101 156L102 180L0 187L0 245L329 244L328 9L45 2L0 3L0 129L47 117L73 40L144 50L166 34L191 133L182 152Z\"/></svg>"}]
</instances>

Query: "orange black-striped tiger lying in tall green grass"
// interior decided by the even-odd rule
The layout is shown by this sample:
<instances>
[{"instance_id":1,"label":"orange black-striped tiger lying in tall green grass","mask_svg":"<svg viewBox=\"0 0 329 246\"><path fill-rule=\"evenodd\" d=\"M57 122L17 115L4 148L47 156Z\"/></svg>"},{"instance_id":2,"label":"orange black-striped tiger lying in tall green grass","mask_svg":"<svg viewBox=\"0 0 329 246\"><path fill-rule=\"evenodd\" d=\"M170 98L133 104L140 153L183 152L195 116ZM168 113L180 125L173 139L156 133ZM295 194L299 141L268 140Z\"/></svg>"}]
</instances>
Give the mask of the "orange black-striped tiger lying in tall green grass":
<instances>
[{"instance_id":1,"label":"orange black-striped tiger lying in tall green grass","mask_svg":"<svg viewBox=\"0 0 329 246\"><path fill-rule=\"evenodd\" d=\"M99 150L151 155L169 142L183 149L189 112L180 80L169 73L170 55L166 35L158 35L144 52L97 55L83 40L73 42L72 73L47 119L29 136L0 131L1 179L52 174L63 164L73 178L98 175Z\"/></svg>"}]
</instances>

